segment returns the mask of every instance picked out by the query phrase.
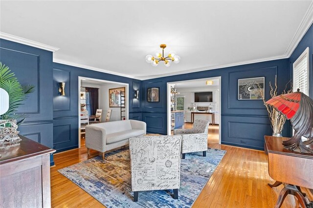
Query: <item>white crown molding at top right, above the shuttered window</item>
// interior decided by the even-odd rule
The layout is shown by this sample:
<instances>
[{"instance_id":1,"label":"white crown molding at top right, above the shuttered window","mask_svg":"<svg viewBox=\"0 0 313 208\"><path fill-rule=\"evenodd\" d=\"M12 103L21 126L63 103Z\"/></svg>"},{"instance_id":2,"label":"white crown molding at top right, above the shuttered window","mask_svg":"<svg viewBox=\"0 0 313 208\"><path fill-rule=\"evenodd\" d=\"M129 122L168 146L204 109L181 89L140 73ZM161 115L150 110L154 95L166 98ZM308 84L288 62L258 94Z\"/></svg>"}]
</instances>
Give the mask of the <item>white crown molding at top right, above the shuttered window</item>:
<instances>
[{"instance_id":1,"label":"white crown molding at top right, above the shuttered window","mask_svg":"<svg viewBox=\"0 0 313 208\"><path fill-rule=\"evenodd\" d=\"M295 32L293 38L291 39L291 42L289 43L287 50L285 52L285 56L287 56L288 58L291 56L292 52L297 47L303 36L306 34L312 23L313 23L313 1L311 2L297 31Z\"/></svg>"}]
</instances>

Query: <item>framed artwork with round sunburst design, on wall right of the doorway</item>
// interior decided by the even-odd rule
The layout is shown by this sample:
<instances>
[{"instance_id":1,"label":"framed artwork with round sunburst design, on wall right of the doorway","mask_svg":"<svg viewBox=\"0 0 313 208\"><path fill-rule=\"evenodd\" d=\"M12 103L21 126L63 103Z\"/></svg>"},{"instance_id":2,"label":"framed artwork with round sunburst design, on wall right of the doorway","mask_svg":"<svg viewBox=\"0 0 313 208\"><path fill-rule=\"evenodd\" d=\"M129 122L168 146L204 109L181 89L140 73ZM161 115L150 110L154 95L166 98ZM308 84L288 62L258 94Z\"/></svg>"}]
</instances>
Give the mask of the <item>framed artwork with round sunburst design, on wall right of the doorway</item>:
<instances>
[{"instance_id":1,"label":"framed artwork with round sunburst design, on wall right of the doorway","mask_svg":"<svg viewBox=\"0 0 313 208\"><path fill-rule=\"evenodd\" d=\"M238 100L262 100L265 77L238 80Z\"/></svg>"}]
</instances>

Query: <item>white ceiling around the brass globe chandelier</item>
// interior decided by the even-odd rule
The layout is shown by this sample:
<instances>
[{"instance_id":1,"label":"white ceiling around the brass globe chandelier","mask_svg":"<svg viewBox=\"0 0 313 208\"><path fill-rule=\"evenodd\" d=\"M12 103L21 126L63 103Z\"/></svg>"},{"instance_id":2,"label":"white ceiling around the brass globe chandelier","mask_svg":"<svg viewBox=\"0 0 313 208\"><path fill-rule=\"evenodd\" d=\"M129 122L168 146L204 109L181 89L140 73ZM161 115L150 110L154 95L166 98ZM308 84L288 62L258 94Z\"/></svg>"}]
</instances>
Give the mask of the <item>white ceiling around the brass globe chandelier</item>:
<instances>
[{"instance_id":1,"label":"white ceiling around the brass globe chandelier","mask_svg":"<svg viewBox=\"0 0 313 208\"><path fill-rule=\"evenodd\" d=\"M312 23L312 5L312 0L1 0L0 37L6 33L60 48L54 62L143 80L287 58ZM161 43L168 46L165 53L178 53L180 63L145 62Z\"/></svg>"}]
</instances>

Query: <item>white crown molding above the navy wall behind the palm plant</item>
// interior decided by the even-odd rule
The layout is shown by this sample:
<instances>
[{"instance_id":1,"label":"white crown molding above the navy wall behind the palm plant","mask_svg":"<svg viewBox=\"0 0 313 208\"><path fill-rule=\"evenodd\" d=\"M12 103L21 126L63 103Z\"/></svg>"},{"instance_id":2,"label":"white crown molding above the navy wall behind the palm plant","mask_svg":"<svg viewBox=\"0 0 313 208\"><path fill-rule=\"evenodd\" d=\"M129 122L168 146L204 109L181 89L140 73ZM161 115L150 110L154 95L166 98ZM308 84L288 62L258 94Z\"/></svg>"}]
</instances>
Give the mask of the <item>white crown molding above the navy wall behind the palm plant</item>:
<instances>
[{"instance_id":1,"label":"white crown molding above the navy wall behind the palm plant","mask_svg":"<svg viewBox=\"0 0 313 208\"><path fill-rule=\"evenodd\" d=\"M0 32L0 38L8 40L8 41L22 43L24 45L33 46L33 47L36 47L36 48L41 48L41 49L44 49L44 50L47 50L47 51L55 52L55 51L59 50L59 48L57 48L57 47L46 45L46 44L40 43L40 42L31 41L31 40L28 40L28 39L24 39L24 38L21 38L21 37L18 37L18 36L14 36L14 35L10 35L10 34L3 33L3 32Z\"/></svg>"}]
</instances>

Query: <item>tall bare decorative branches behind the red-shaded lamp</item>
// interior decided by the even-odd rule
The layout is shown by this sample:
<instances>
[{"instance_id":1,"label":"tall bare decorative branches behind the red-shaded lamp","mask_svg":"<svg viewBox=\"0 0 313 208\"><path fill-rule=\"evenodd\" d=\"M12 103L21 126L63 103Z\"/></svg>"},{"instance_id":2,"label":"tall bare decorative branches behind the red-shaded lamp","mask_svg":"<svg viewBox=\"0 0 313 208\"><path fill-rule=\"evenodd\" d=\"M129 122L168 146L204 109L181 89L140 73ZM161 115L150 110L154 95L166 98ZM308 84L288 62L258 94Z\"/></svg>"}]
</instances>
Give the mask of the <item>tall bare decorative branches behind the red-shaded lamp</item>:
<instances>
[{"instance_id":1,"label":"tall bare decorative branches behind the red-shaded lamp","mask_svg":"<svg viewBox=\"0 0 313 208\"><path fill-rule=\"evenodd\" d=\"M289 83L291 85L291 89L286 91L287 85ZM270 94L271 98L276 97L277 96L277 76L275 76L275 85L272 86L271 83L269 82L269 87L270 87L269 94ZM282 95L283 94L287 94L287 93L291 93L291 92L292 92L292 83L291 83L291 81L289 81L286 84L286 87L285 87L284 91L282 92ZM266 100L265 100L265 96L264 96L264 94L262 92L261 92L261 97L262 97L263 103L265 104ZM282 133L282 131L284 129L284 124L286 122L285 116L280 114L274 108L272 108L272 107L270 107L268 105L265 105L265 106L266 106L266 108L268 110L268 117L269 117L269 120L270 120L270 125L271 125L271 127L273 129L273 136L281 136L281 133Z\"/></svg>"}]
</instances>

